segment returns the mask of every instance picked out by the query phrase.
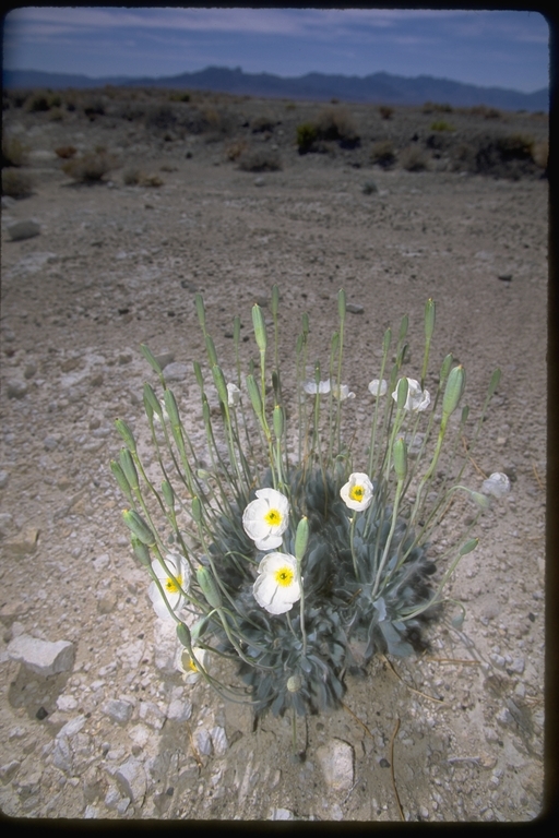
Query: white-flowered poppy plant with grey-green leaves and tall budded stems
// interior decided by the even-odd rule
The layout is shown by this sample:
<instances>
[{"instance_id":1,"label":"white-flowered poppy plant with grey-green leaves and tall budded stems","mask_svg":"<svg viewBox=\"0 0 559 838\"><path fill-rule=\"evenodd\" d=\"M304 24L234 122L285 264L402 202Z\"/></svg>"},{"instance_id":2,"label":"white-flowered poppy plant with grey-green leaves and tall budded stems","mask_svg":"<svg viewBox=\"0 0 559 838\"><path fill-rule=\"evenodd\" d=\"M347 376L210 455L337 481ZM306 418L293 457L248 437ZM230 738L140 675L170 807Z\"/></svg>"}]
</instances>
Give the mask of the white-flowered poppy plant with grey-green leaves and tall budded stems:
<instances>
[{"instance_id":1,"label":"white-flowered poppy plant with grey-green leaves and tall budded stems","mask_svg":"<svg viewBox=\"0 0 559 838\"><path fill-rule=\"evenodd\" d=\"M428 621L445 607L447 582L477 546L479 515L510 488L506 475L481 483L468 469L500 372L479 416L471 417L464 368L447 354L431 371L435 302L428 300L421 367L405 370L404 316L397 335L389 328L381 337L368 392L350 392L342 383L342 290L330 357L309 367L304 314L284 381L276 286L273 330L252 307L259 363L242 369L236 316L235 358L223 368L200 295L195 304L207 356L206 369L193 362L203 451L145 345L157 379L143 392L150 468L131 428L117 421L124 446L111 469L127 500L122 517L133 554L151 577L157 615L176 623L186 689L204 680L257 714L290 709L295 718L334 708L346 672L364 671L377 653L406 657L425 647ZM362 450L354 434L346 439L352 404L359 402L369 415ZM459 444L466 433L467 447ZM467 506L467 523L438 543L455 503ZM452 600L456 607L463 613ZM236 685L218 680L212 665L218 656L237 660Z\"/></svg>"}]
</instances>

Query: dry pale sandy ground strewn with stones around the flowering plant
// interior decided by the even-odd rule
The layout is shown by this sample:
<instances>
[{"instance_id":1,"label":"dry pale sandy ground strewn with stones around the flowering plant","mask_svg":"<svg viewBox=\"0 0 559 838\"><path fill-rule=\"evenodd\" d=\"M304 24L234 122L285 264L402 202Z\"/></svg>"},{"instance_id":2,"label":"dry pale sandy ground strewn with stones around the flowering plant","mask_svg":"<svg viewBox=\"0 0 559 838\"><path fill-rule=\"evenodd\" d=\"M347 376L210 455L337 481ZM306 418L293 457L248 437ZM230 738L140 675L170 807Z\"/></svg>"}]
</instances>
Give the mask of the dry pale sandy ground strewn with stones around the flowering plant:
<instances>
[{"instance_id":1,"label":"dry pale sandy ground strewn with stones around the flowering plant","mask_svg":"<svg viewBox=\"0 0 559 838\"><path fill-rule=\"evenodd\" d=\"M296 125L322 106L206 96L198 108L173 104L179 116L160 127L147 117L162 92L134 100L117 93L99 93L105 113L91 118L78 95L59 119L4 110L4 130L26 147L22 171L34 192L2 203L1 810L49 818L536 817L547 181L531 160L503 164L491 137L520 132L543 142L546 119L396 109L382 120L377 108L356 106L357 147L326 140L299 155ZM441 118L455 131L431 130ZM386 139L397 159L384 169L370 155ZM242 143L249 168L254 149L260 159L280 156L282 168L242 170ZM76 183L53 153L64 145L79 155L103 145L120 168ZM408 145L421 148L426 169L402 167ZM126 185L131 168L164 183ZM26 219L40 234L12 241L8 229ZM406 312L406 374L417 375L432 297L433 369L454 352L474 414L492 370L502 370L469 484L479 489L481 472L492 471L512 481L450 586L467 609L462 630L445 614L423 657L378 658L367 678L348 678L345 707L299 723L299 763L290 759L289 718L253 727L248 709L224 705L201 682L185 686L174 671L173 638L157 625L108 468L120 447L114 420L143 433L142 385L155 382L140 344L186 364L173 386L195 422L191 361L205 360L195 291L227 370L234 315L251 334L251 303L265 301L273 283L286 363L302 311L314 356L325 358L338 288L362 307L348 314L344 374L357 394L344 406L356 426L370 410L382 334ZM252 338L246 347L249 358ZM41 678L12 660L9 643L22 634L75 644L72 669ZM109 711L112 699L127 718ZM191 703L188 719L177 699ZM321 756L336 741L352 763L338 782Z\"/></svg>"}]
</instances>

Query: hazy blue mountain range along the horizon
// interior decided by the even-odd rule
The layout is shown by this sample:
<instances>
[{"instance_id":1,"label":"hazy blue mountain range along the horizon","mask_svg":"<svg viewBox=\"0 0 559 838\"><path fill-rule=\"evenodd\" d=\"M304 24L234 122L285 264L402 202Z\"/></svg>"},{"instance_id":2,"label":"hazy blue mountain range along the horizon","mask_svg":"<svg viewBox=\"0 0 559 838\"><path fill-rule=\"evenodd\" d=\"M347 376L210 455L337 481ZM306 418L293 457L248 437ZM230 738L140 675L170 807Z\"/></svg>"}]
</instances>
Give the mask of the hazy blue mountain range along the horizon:
<instances>
[{"instance_id":1,"label":"hazy blue mountain range along the horizon","mask_svg":"<svg viewBox=\"0 0 559 838\"><path fill-rule=\"evenodd\" d=\"M230 93L238 96L262 96L264 98L290 98L324 101L337 98L344 101L360 101L385 105L423 105L425 101L448 103L454 107L486 105L502 110L549 109L547 88L535 93L520 93L501 87L478 87L448 79L418 75L407 79L403 75L373 73L372 75L324 75L307 73L298 77L283 77L271 73L243 73L236 68L209 67L195 73L160 76L158 79L132 79L130 76L105 76L92 79L87 75L43 73L38 70L4 70L3 85L8 88L50 87L103 87L110 84L118 87L166 87Z\"/></svg>"}]
</instances>

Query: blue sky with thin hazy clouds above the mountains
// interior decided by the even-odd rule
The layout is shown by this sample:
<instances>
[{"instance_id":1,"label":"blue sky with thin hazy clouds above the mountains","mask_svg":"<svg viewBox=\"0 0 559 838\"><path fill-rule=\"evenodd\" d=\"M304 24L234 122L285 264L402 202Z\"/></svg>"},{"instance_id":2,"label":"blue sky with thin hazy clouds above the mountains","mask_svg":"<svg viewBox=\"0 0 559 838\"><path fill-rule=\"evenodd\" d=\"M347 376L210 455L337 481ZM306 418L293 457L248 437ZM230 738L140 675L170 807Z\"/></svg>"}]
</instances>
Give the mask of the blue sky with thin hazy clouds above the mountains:
<instances>
[{"instance_id":1,"label":"blue sky with thin hazy clouds above the mountains","mask_svg":"<svg viewBox=\"0 0 559 838\"><path fill-rule=\"evenodd\" d=\"M4 21L4 67L164 76L206 67L433 75L532 93L548 84L548 25L537 12L33 8Z\"/></svg>"}]
</instances>

